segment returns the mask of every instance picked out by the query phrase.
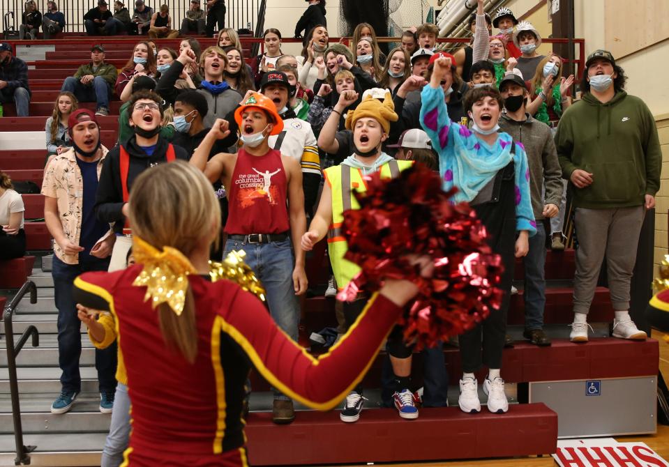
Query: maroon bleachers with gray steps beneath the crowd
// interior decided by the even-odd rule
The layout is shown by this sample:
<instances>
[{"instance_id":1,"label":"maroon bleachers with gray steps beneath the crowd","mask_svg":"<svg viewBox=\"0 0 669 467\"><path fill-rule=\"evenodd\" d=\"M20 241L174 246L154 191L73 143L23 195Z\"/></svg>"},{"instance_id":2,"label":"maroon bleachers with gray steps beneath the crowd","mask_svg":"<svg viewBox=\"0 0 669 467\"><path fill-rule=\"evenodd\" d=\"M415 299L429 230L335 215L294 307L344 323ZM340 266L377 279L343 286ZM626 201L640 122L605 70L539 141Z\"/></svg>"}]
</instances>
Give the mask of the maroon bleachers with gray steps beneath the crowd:
<instances>
[{"instance_id":1,"label":"maroon bleachers with gray steps beneath the crowd","mask_svg":"<svg viewBox=\"0 0 669 467\"><path fill-rule=\"evenodd\" d=\"M336 40L336 39L333 39ZM179 40L158 40L158 46L178 49ZM204 47L213 40L200 38ZM41 184L45 162L45 120L50 116L54 99L63 79L74 74L77 67L90 59L91 45L102 43L107 49L107 61L117 67L130 57L135 39L87 38L70 34L61 40L46 43L17 43L17 55L29 63L29 80L33 98L27 118L15 116L13 105L4 107L0 118L0 169L15 181ZM114 146L118 131L118 112L121 102L116 96L111 102L110 116L98 117L103 144ZM94 103L80 105L94 110ZM14 317L15 339L29 326L40 332L40 346L29 344L17 360L18 388L22 408L24 443L36 445L31 453L32 465L89 466L99 463L100 451L109 428L110 416L99 413L96 370L93 348L82 333L82 395L73 410L64 415L52 415L50 404L60 391L57 349L57 309L50 274L51 238L43 222L44 200L40 194L24 196L29 253L22 259L0 261L0 291L11 297L26 280L38 286L37 303L24 298ZM313 289L324 289L326 257L323 245L308 259L308 275ZM324 272L325 271L325 272ZM350 464L389 461L428 461L446 459L481 459L488 457L525 457L555 452L557 438L592 436L594 434L631 434L655 431L656 418L643 422L620 418L602 423L588 433L578 432L572 422L576 416L598 418L608 410L601 404L589 406L589 411L574 413L572 392L554 391L542 399L539 389L551 382L584 388L587 381L618 384L628 381L632 388L648 388L650 379L658 374L658 343L626 342L609 338L609 323L613 319L608 290L597 289L589 315L594 335L587 344L569 342L569 327L573 314L572 280L574 252L548 252L546 260L546 330L553 345L539 348L523 340L525 321L522 297L523 266L516 263L516 286L520 293L513 296L509 310L509 334L516 344L504 351L502 376L511 408L504 415L493 415L486 408L479 415L462 413L457 406L458 378L461 374L458 349L446 345L444 353L451 388L447 408L421 408L416 420L398 417L394 408L379 408L379 388L385 355L382 353L366 376L370 388L359 422L344 424L336 412L320 413L297 406L296 421L288 426L271 422L271 392L269 384L254 374L251 413L247 435L251 464ZM0 305L5 298L0 296ZM306 334L326 326L336 326L334 301L320 296L303 300L301 325ZM0 329L0 464L13 463L15 438L13 434L10 387L7 359L4 354L6 335ZM319 351L313 348L313 351ZM126 355L126 358L128 356ZM485 371L479 375L479 381ZM414 355L413 383L421 386L422 361ZM656 384L656 383L655 383ZM652 384L651 384L652 386ZM654 388L652 388L654 389ZM481 391L481 401L486 396ZM637 403L638 404L638 403ZM655 402L646 404L654 413ZM580 406L579 406L580 407ZM563 422L568 420L569 422ZM290 448L287 448L290 447ZM99 465L99 464L98 464Z\"/></svg>"}]
</instances>

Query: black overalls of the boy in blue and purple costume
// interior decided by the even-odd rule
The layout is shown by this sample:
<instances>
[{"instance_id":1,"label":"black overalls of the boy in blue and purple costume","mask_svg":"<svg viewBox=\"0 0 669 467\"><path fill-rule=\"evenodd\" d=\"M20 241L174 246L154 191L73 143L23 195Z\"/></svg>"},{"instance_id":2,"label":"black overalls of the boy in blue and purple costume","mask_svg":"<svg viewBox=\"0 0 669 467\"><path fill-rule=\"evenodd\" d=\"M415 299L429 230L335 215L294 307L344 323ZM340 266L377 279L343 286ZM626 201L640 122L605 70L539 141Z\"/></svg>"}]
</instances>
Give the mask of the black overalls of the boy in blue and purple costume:
<instances>
[{"instance_id":1,"label":"black overalls of the boy in blue and purple costume","mask_svg":"<svg viewBox=\"0 0 669 467\"><path fill-rule=\"evenodd\" d=\"M504 273L499 282L499 289L503 292L502 305L499 309L493 309L483 323L458 338L465 373L474 373L481 365L502 368L506 313L509 310L516 250L516 183L513 162L502 171L504 175L498 201L474 206L476 215L488 230L488 245L502 257Z\"/></svg>"}]
</instances>

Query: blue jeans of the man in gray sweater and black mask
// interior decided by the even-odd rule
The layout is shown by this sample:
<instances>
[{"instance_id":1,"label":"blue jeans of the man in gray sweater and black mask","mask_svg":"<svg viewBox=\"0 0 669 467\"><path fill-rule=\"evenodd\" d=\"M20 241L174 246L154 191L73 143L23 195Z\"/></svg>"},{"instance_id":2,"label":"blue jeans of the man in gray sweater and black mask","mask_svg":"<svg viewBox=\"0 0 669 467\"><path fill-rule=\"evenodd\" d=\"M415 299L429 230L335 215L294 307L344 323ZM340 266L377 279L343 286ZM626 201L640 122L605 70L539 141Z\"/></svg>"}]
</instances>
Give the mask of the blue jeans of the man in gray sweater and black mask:
<instances>
[{"instance_id":1,"label":"blue jeans of the man in gray sweater and black mask","mask_svg":"<svg viewBox=\"0 0 669 467\"><path fill-rule=\"evenodd\" d=\"M536 222L536 235L529 238L525 263L525 329L543 328L546 308L546 228Z\"/></svg>"}]
</instances>

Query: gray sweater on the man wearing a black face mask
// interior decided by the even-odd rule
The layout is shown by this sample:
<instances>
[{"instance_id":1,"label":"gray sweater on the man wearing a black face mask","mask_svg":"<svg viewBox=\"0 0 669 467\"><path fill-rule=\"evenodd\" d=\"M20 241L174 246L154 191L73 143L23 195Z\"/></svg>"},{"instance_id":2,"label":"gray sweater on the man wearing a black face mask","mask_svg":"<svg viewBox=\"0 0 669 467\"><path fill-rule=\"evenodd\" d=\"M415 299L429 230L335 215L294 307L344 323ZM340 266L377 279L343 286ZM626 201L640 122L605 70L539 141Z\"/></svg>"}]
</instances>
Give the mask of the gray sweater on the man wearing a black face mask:
<instances>
[{"instance_id":1,"label":"gray sweater on the man wearing a black face mask","mask_svg":"<svg viewBox=\"0 0 669 467\"><path fill-rule=\"evenodd\" d=\"M534 219L543 220L544 204L555 204L559 208L563 189L562 169L557 161L555 141L548 125L535 120L530 114L526 113L525 117L524 121L519 122L504 112L499 118L499 128L525 146ZM542 181L546 189L545 201L541 197Z\"/></svg>"}]
</instances>

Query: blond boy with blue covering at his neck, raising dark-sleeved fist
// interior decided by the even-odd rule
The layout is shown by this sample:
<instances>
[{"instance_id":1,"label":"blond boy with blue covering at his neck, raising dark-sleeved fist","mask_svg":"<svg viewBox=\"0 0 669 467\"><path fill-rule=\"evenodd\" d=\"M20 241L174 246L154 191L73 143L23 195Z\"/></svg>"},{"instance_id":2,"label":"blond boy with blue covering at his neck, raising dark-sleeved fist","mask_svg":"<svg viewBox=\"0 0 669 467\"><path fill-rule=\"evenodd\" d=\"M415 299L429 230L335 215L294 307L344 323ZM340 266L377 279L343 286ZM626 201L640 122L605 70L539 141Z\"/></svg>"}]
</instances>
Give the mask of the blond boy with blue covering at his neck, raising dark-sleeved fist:
<instances>
[{"instance_id":1,"label":"blond boy with blue covering at his neck, raising dark-sleeved fist","mask_svg":"<svg viewBox=\"0 0 669 467\"><path fill-rule=\"evenodd\" d=\"M160 77L156 92L166 102L174 102L181 92L174 87L176 79L183 72L183 68L195 63L195 54L190 49L184 49L181 55L172 63L170 69ZM198 92L204 94L209 105L209 114L204 117L204 125L211 126L216 118L225 118L239 105L242 96L230 88L225 82L224 73L227 66L227 55L219 47L208 47L202 52L200 66L204 71L204 79L198 86Z\"/></svg>"}]
</instances>

